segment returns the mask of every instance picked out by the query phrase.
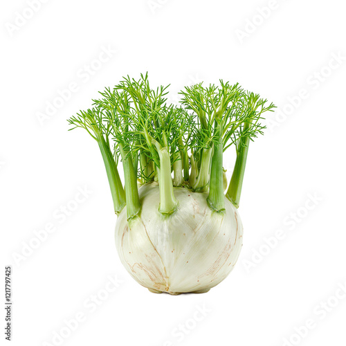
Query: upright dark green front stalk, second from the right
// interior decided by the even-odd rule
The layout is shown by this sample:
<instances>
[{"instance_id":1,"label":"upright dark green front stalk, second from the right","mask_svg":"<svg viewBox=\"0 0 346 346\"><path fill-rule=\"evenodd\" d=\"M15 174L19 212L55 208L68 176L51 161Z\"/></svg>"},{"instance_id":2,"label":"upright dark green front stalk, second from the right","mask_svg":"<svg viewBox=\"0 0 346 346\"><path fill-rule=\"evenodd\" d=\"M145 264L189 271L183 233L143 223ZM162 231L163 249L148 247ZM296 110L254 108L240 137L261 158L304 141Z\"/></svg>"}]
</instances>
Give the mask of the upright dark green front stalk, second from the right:
<instances>
[{"instance_id":1,"label":"upright dark green front stalk, second from the right","mask_svg":"<svg viewBox=\"0 0 346 346\"><path fill-rule=\"evenodd\" d=\"M208 195L208 205L216 212L225 210L224 199L224 170L222 168L222 156L224 154L224 144L222 140L222 121L219 124L215 121L214 154L212 155L212 168L210 171L210 187Z\"/></svg>"}]
</instances>

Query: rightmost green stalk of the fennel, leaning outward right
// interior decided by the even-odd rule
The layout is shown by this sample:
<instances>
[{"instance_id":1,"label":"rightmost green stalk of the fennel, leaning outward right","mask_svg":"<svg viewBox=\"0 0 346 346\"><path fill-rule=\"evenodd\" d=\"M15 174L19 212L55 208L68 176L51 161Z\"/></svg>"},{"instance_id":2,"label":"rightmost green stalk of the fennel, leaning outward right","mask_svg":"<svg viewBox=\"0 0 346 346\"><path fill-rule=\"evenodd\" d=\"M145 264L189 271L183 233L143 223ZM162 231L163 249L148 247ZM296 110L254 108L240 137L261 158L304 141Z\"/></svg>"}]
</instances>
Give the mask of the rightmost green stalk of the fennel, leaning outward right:
<instances>
[{"instance_id":1,"label":"rightmost green stalk of the fennel, leaning outward right","mask_svg":"<svg viewBox=\"0 0 346 346\"><path fill-rule=\"evenodd\" d=\"M241 139L242 140L242 139ZM239 143L239 149L237 149L237 159L235 161L235 168L233 170L232 178L230 179L230 185L228 186L226 197L238 208L240 195L242 194L242 185L244 180L244 172L246 166L246 158L248 157L248 145L250 138L246 137L243 143Z\"/></svg>"}]
</instances>

